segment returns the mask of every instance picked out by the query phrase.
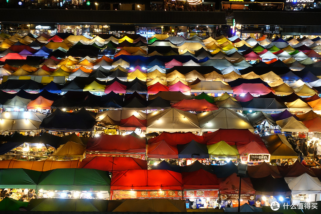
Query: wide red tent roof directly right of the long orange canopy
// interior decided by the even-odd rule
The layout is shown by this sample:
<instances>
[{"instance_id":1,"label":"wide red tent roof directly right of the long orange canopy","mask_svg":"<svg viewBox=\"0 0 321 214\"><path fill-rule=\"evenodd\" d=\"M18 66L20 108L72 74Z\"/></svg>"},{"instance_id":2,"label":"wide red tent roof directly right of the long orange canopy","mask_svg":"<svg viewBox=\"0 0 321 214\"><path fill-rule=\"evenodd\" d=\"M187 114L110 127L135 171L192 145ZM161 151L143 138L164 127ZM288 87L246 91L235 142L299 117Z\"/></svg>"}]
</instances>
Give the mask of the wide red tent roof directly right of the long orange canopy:
<instances>
[{"instance_id":1,"label":"wide red tent roof directly right of the long orange canopy","mask_svg":"<svg viewBox=\"0 0 321 214\"><path fill-rule=\"evenodd\" d=\"M130 157L91 157L82 159L78 168L120 172L127 169L147 169L147 161Z\"/></svg>"}]
</instances>

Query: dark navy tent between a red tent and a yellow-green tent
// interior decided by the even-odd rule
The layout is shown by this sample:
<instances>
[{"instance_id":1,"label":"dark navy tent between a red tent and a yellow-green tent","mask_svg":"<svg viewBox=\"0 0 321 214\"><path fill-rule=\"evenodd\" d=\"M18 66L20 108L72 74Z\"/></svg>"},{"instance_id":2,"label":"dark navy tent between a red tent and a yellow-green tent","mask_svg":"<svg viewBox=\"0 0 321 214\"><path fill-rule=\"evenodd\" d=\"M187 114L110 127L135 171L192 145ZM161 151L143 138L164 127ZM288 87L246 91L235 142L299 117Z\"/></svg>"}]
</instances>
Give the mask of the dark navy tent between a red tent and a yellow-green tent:
<instances>
[{"instance_id":1,"label":"dark navy tent between a red tent and a yellow-green tent","mask_svg":"<svg viewBox=\"0 0 321 214\"><path fill-rule=\"evenodd\" d=\"M206 145L194 140L187 144L178 144L177 150L178 158L209 158Z\"/></svg>"}]
</instances>

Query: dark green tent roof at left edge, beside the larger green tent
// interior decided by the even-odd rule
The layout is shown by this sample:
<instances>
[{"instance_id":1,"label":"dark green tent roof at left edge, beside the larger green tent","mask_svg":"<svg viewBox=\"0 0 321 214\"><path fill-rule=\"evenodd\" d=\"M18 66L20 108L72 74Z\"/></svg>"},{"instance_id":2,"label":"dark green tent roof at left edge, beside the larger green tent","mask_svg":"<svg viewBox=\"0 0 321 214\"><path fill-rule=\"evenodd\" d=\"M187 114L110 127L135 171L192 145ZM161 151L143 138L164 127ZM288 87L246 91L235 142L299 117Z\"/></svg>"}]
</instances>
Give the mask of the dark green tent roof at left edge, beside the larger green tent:
<instances>
[{"instance_id":1,"label":"dark green tent roof at left edge, beside the larger green tent","mask_svg":"<svg viewBox=\"0 0 321 214\"><path fill-rule=\"evenodd\" d=\"M29 169L0 169L0 188L37 189L40 175Z\"/></svg>"}]
</instances>

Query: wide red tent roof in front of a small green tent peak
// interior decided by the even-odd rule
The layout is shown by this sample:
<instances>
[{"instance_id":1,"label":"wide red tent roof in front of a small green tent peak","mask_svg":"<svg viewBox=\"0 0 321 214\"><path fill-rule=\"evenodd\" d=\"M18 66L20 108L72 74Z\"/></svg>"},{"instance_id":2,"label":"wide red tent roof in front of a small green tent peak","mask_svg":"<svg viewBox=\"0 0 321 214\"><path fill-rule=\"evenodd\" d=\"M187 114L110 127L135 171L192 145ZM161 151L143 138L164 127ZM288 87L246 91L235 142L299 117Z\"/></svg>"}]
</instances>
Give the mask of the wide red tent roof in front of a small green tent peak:
<instances>
[{"instance_id":1,"label":"wide red tent roof in front of a small green tent peak","mask_svg":"<svg viewBox=\"0 0 321 214\"><path fill-rule=\"evenodd\" d=\"M218 109L214 103L209 103L205 99L183 99L172 107L183 111L213 111Z\"/></svg>"}]
</instances>

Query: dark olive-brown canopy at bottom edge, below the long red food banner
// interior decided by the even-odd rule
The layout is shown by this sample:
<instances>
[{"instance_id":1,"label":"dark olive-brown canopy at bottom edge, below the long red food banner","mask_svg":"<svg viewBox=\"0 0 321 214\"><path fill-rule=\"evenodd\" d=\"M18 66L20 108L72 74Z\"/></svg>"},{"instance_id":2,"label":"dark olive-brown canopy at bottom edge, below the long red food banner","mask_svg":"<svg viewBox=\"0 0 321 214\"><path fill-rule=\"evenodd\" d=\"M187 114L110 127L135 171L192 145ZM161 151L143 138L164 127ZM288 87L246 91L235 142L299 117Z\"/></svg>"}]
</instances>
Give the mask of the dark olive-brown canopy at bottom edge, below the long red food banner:
<instances>
[{"instance_id":1,"label":"dark olive-brown canopy at bottom edge, below the long red food banner","mask_svg":"<svg viewBox=\"0 0 321 214\"><path fill-rule=\"evenodd\" d=\"M118 201L118 200L117 200ZM114 201L112 201L114 202ZM112 206L108 204L108 207ZM109 209L109 208L108 208ZM185 200L125 199L113 212L186 212Z\"/></svg>"}]
</instances>

